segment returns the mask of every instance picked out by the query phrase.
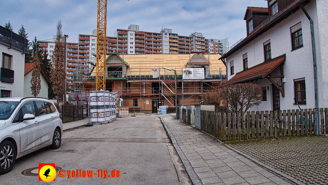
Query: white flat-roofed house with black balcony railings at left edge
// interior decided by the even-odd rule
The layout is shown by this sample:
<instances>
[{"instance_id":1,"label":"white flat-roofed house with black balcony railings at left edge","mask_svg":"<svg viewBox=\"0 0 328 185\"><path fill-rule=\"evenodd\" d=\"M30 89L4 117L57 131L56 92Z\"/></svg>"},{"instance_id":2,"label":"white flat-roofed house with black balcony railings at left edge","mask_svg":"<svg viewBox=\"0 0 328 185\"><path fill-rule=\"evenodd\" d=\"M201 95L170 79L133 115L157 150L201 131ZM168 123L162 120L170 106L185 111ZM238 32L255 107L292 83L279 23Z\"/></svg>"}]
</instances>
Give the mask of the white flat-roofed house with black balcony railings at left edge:
<instances>
[{"instance_id":1,"label":"white flat-roofed house with black balcony railings at left edge","mask_svg":"<svg viewBox=\"0 0 328 185\"><path fill-rule=\"evenodd\" d=\"M0 97L23 97L28 40L0 26Z\"/></svg>"}]
</instances>

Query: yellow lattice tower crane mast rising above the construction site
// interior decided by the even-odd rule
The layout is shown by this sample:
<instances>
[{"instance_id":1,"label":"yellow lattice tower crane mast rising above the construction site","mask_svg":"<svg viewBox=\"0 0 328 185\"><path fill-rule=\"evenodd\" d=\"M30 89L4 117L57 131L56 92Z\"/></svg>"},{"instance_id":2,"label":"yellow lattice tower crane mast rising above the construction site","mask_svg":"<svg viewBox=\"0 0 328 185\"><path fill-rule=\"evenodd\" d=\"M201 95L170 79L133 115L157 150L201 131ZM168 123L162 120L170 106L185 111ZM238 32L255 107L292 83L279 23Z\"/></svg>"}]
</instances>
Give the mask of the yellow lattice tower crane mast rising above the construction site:
<instances>
[{"instance_id":1,"label":"yellow lattice tower crane mast rising above the construction site","mask_svg":"<svg viewBox=\"0 0 328 185\"><path fill-rule=\"evenodd\" d=\"M97 47L96 47L96 91L106 90L106 19L107 0L98 0Z\"/></svg>"}]
</instances>

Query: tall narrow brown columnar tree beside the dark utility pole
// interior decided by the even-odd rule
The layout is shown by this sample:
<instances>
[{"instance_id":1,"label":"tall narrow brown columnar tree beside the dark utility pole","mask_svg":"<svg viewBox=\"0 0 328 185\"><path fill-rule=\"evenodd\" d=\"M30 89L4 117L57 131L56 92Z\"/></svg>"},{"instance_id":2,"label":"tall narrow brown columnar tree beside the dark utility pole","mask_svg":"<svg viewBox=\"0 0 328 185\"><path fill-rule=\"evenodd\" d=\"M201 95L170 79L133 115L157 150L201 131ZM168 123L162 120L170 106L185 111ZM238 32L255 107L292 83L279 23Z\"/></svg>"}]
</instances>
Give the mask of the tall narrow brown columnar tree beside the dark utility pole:
<instances>
[{"instance_id":1,"label":"tall narrow brown columnar tree beside the dark utility pole","mask_svg":"<svg viewBox=\"0 0 328 185\"><path fill-rule=\"evenodd\" d=\"M55 41L55 48L51 57L51 83L54 94L57 94L57 104L59 104L59 95L64 93L64 83L66 73L64 69L64 37L63 37L63 24L58 21L56 24L57 34Z\"/></svg>"}]
</instances>

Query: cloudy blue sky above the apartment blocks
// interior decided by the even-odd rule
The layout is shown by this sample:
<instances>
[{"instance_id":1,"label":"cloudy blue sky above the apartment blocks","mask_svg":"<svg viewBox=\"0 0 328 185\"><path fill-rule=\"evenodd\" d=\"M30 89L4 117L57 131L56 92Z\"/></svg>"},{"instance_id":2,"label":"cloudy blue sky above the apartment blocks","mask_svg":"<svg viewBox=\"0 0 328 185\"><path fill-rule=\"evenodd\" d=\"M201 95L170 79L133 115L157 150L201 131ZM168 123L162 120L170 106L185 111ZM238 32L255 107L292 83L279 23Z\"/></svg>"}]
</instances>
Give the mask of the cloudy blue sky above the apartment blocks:
<instances>
[{"instance_id":1,"label":"cloudy blue sky above the apartment blocks","mask_svg":"<svg viewBox=\"0 0 328 185\"><path fill-rule=\"evenodd\" d=\"M265 7L265 0L108 0L107 36L139 25L140 31L172 29L179 35L201 32L206 38L229 38L232 46L246 36L247 6ZM10 20L14 32L23 24L31 40L51 39L61 19L68 42L97 27L97 0L1 0L0 25Z\"/></svg>"}]
</instances>

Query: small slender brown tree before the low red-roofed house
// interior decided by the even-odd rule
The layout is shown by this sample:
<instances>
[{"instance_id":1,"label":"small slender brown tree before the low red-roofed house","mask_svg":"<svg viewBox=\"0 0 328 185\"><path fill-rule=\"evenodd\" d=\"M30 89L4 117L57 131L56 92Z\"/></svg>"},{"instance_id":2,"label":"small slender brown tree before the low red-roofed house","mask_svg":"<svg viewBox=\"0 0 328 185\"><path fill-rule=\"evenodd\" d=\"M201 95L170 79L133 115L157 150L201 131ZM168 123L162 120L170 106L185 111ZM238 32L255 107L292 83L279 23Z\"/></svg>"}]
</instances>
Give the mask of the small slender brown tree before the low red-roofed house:
<instances>
[{"instance_id":1,"label":"small slender brown tree before the low red-roofed house","mask_svg":"<svg viewBox=\"0 0 328 185\"><path fill-rule=\"evenodd\" d=\"M31 91L32 95L36 97L41 90L41 78L40 78L40 61L39 57L35 54L33 57L33 66L34 69L32 71L32 78L31 78Z\"/></svg>"}]
</instances>

